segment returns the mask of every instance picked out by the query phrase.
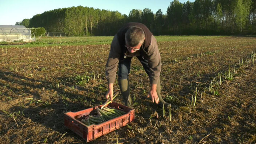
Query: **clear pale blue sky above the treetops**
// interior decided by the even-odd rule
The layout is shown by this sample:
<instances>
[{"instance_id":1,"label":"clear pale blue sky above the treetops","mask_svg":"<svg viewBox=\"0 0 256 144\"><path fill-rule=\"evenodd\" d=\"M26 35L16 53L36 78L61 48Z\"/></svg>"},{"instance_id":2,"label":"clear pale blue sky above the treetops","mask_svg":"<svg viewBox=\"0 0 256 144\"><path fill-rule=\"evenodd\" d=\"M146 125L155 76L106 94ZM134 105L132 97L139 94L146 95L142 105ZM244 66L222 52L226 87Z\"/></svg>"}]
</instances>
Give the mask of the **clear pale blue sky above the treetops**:
<instances>
[{"instance_id":1,"label":"clear pale blue sky above the treetops","mask_svg":"<svg viewBox=\"0 0 256 144\"><path fill-rule=\"evenodd\" d=\"M127 16L132 9L144 8L151 9L153 13L161 9L166 14L171 1L173 0L1 0L0 25L15 25L17 21L30 19L45 11L79 5L119 11ZM188 0L179 1L184 3Z\"/></svg>"}]
</instances>

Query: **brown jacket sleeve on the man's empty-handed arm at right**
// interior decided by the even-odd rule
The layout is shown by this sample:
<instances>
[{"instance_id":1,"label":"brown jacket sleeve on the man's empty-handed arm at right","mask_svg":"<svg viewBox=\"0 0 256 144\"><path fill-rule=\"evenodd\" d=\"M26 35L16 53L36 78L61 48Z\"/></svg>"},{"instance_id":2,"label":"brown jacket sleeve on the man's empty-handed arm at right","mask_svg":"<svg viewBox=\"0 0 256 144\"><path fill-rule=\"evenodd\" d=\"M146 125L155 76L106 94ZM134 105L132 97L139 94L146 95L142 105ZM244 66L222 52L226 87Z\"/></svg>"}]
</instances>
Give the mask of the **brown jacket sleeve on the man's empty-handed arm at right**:
<instances>
[{"instance_id":1,"label":"brown jacket sleeve on the man's empty-handed arm at right","mask_svg":"<svg viewBox=\"0 0 256 144\"><path fill-rule=\"evenodd\" d=\"M155 36L152 35L148 47L149 79L151 84L157 84L161 72L161 56Z\"/></svg>"}]
</instances>

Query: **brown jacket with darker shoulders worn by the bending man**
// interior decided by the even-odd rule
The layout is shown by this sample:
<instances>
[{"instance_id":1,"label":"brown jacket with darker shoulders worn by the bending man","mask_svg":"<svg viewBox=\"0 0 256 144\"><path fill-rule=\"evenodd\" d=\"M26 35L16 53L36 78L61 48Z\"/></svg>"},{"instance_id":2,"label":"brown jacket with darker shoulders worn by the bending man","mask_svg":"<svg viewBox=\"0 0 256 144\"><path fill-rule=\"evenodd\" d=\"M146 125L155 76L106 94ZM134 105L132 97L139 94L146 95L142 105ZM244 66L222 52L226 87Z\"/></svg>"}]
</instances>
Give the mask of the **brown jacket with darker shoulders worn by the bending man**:
<instances>
[{"instance_id":1,"label":"brown jacket with darker shoulders worn by the bending man","mask_svg":"<svg viewBox=\"0 0 256 144\"><path fill-rule=\"evenodd\" d=\"M145 40L139 51L129 53L125 48L125 32L132 26L143 29L145 33ZM157 84L161 72L161 57L157 46L156 38L152 35L149 29L141 23L127 23L119 29L114 36L106 64L106 78L108 83L114 83L116 79L117 65L120 60L126 57L133 57L141 55L143 59L148 60L149 65L149 79L151 84Z\"/></svg>"}]
</instances>

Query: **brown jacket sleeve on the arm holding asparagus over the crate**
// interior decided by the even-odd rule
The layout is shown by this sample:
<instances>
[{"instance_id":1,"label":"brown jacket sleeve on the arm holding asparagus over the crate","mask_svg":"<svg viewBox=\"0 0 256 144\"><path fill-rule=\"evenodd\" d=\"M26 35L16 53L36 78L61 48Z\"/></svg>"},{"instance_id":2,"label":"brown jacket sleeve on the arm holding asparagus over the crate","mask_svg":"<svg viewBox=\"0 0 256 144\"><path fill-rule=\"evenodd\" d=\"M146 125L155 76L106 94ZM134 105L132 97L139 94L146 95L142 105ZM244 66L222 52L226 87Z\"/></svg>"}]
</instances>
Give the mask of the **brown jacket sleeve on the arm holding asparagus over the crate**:
<instances>
[{"instance_id":1,"label":"brown jacket sleeve on the arm holding asparagus over the crate","mask_svg":"<svg viewBox=\"0 0 256 144\"><path fill-rule=\"evenodd\" d=\"M111 43L111 48L108 55L108 61L107 61L107 64L105 65L106 66L105 74L106 74L106 79L108 81L108 84L115 82L117 65L119 63L120 54L121 54L120 44L118 42L117 35L115 35Z\"/></svg>"}]
</instances>

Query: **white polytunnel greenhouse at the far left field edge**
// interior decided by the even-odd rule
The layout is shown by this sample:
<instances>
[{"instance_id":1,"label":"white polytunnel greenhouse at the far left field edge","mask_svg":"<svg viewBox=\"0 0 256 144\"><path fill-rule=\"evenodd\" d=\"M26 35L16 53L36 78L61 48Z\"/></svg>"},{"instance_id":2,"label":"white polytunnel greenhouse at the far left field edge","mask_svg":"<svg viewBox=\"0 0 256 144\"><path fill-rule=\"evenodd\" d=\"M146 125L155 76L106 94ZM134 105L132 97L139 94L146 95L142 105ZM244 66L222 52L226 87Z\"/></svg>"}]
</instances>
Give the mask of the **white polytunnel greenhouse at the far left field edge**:
<instances>
[{"instance_id":1,"label":"white polytunnel greenhouse at the far left field edge","mask_svg":"<svg viewBox=\"0 0 256 144\"><path fill-rule=\"evenodd\" d=\"M36 38L31 37L31 30L24 25L0 25L0 41L35 41Z\"/></svg>"}]
</instances>

